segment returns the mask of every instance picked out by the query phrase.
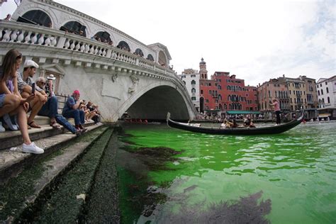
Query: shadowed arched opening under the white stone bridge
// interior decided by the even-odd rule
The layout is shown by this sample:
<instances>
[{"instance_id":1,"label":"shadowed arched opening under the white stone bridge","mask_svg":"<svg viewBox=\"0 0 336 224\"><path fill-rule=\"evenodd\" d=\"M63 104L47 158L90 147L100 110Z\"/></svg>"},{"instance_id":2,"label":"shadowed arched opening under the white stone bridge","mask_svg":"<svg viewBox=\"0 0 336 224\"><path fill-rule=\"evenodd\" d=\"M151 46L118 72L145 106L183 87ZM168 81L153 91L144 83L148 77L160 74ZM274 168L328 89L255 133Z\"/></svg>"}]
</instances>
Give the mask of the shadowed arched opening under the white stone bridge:
<instances>
[{"instance_id":1,"label":"shadowed arched opening under the white stone bridge","mask_svg":"<svg viewBox=\"0 0 336 224\"><path fill-rule=\"evenodd\" d=\"M172 118L189 120L194 117L194 111L187 101L184 92L175 84L160 82L137 91L123 103L117 113L119 118L127 111L131 118L164 120L167 112L170 112Z\"/></svg>"}]
</instances>

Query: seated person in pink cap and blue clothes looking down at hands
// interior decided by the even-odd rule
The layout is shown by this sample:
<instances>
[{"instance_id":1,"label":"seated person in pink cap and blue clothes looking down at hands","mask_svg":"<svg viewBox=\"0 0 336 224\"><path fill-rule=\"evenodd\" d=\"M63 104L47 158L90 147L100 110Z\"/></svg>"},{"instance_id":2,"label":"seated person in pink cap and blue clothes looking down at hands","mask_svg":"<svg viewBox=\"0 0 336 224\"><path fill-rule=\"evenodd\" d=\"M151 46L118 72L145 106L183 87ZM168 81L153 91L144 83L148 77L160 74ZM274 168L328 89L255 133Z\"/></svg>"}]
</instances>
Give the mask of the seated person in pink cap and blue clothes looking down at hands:
<instances>
[{"instance_id":1,"label":"seated person in pink cap and blue clothes looking down at hands","mask_svg":"<svg viewBox=\"0 0 336 224\"><path fill-rule=\"evenodd\" d=\"M74 118L74 127L77 130L85 132L87 128L84 128L85 118L84 111L81 109L85 106L82 100L79 100L79 90L75 90L72 96L69 96L67 102L62 111L62 116L65 118Z\"/></svg>"}]
</instances>

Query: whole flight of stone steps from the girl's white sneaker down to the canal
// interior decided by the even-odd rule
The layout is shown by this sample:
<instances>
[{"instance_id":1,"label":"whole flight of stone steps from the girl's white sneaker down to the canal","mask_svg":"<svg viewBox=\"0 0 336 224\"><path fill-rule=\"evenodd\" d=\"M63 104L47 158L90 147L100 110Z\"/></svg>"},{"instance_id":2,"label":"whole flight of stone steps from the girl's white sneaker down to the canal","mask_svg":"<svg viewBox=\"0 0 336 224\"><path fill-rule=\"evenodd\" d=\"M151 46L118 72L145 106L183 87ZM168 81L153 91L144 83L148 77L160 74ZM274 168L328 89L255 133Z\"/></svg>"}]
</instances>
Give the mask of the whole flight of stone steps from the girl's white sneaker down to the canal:
<instances>
[{"instance_id":1,"label":"whole flight of stone steps from the girl's white sneaker down to the canal","mask_svg":"<svg viewBox=\"0 0 336 224\"><path fill-rule=\"evenodd\" d=\"M78 138L76 135L61 133L36 140L36 145L43 145L45 148L45 153L41 155L0 151L0 158L7 155L7 159L3 160L4 164L1 163L0 223L20 220L30 223L45 217L40 217L40 214L54 217L58 211L50 213L51 202L46 204L44 201L59 195L57 191L68 194L56 198L60 203L62 200L70 201L68 207L62 203L66 213L71 213L68 218L77 218L77 212L81 211L84 200L77 199L76 196L89 192L96 167L99 166L101 155L113 131L103 125L91 125L88 129L88 133ZM70 182L78 186L69 187L72 186ZM57 191L54 192L54 189ZM69 196L74 190L78 192ZM45 211L39 213L40 209ZM32 215L36 217L33 218ZM58 218L65 221L65 217Z\"/></svg>"}]
</instances>

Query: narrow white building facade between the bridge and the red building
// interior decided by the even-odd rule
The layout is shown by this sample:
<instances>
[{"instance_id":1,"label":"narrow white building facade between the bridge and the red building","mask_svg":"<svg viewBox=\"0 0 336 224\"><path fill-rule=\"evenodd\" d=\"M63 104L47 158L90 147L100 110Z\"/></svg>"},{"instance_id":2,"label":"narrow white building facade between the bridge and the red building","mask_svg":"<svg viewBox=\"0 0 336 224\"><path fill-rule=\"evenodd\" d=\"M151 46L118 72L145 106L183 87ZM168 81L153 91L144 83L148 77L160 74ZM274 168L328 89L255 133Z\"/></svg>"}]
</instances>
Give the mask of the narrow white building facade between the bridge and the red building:
<instances>
[{"instance_id":1,"label":"narrow white building facade between the bridge and the red building","mask_svg":"<svg viewBox=\"0 0 336 224\"><path fill-rule=\"evenodd\" d=\"M186 90L191 96L191 101L193 101L196 111L199 112L199 77L200 74L194 69L184 69L182 74L179 74L186 85Z\"/></svg>"}]
</instances>

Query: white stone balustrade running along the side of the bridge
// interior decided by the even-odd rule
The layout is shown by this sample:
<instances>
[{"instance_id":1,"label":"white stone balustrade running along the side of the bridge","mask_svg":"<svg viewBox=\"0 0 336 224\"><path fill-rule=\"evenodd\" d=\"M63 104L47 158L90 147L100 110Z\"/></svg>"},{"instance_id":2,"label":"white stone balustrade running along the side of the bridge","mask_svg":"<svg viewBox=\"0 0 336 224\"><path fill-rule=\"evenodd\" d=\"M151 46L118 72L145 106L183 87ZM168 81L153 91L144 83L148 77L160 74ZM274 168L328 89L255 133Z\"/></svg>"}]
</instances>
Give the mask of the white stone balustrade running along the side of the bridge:
<instances>
[{"instance_id":1,"label":"white stone balustrade running along the side of the bridge","mask_svg":"<svg viewBox=\"0 0 336 224\"><path fill-rule=\"evenodd\" d=\"M35 26L28 23L0 21L0 43L16 43L20 45L41 45L82 52L85 55L105 57L111 60L125 62L131 65L150 69L153 72L174 77L171 69L162 67L138 55L134 55L117 47L100 43L96 40L84 38L80 35L65 33L44 26ZM87 57L87 56L86 56Z\"/></svg>"}]
</instances>

